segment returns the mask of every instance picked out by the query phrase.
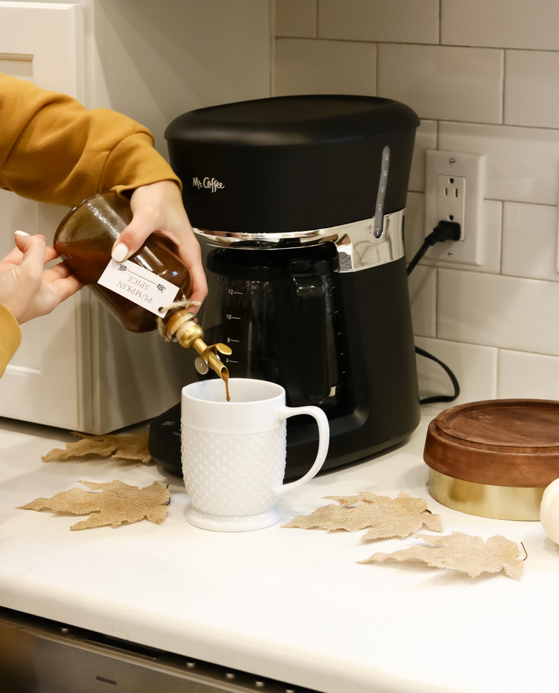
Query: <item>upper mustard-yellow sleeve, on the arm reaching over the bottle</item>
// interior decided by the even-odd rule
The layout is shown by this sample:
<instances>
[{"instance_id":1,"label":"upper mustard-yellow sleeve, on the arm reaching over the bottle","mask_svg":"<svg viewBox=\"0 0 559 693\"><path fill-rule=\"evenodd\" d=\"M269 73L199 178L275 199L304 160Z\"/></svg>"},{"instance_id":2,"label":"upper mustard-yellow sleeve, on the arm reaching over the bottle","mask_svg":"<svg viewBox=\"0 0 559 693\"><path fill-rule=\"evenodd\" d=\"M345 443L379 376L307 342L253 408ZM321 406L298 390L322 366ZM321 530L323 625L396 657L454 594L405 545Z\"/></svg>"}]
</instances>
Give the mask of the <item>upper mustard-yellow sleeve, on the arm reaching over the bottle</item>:
<instances>
[{"instance_id":1,"label":"upper mustard-yellow sleeve, on the arm reaching over the bottle","mask_svg":"<svg viewBox=\"0 0 559 693\"><path fill-rule=\"evenodd\" d=\"M143 125L0 73L0 188L74 207L168 179L180 186Z\"/></svg>"}]
</instances>

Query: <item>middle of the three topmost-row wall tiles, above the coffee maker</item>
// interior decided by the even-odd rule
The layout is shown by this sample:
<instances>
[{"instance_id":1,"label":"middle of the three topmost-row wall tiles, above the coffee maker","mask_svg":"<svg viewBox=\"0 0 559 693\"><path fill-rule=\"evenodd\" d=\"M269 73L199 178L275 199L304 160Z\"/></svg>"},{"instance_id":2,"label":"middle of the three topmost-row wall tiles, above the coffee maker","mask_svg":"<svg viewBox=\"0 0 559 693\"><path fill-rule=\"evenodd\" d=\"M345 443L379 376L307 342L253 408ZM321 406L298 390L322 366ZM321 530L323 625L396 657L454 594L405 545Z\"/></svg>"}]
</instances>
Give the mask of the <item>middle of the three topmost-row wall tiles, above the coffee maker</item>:
<instances>
[{"instance_id":1,"label":"middle of the three topmost-row wall tiles, above the coffee maker","mask_svg":"<svg viewBox=\"0 0 559 693\"><path fill-rule=\"evenodd\" d=\"M438 43L438 0L318 0L318 36Z\"/></svg>"}]
</instances>

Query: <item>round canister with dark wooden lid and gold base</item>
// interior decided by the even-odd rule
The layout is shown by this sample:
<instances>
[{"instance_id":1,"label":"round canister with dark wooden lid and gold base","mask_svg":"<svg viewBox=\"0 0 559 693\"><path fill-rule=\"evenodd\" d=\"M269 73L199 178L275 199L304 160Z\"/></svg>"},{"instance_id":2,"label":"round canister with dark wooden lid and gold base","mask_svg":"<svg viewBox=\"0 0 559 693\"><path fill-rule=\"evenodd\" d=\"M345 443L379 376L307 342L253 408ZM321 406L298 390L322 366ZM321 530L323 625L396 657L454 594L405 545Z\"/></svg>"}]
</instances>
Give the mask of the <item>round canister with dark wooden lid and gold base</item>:
<instances>
[{"instance_id":1,"label":"round canister with dark wooden lid and gold base","mask_svg":"<svg viewBox=\"0 0 559 693\"><path fill-rule=\"evenodd\" d=\"M429 424L429 491L485 517L537 520L559 477L559 402L506 399L451 407Z\"/></svg>"}]
</instances>

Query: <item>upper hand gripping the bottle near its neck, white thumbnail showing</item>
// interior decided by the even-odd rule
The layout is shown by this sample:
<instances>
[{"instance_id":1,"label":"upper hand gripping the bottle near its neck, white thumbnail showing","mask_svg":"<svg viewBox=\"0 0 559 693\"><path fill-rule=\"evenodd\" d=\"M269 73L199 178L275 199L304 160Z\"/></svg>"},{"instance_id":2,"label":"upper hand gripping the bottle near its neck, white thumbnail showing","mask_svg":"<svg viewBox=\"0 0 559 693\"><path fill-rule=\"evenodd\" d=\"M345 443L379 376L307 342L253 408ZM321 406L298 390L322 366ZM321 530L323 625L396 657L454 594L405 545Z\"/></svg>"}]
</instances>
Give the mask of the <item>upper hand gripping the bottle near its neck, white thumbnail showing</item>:
<instances>
[{"instance_id":1,"label":"upper hand gripping the bottle near its neck, white thumbnail showing","mask_svg":"<svg viewBox=\"0 0 559 693\"><path fill-rule=\"evenodd\" d=\"M176 245L178 256L190 272L190 295L192 301L203 301L207 295L207 284L200 245L182 205L178 185L172 180L143 185L132 193L130 207L134 218L114 242L112 257L123 262L137 252L150 234L166 236ZM197 308L189 308L196 313Z\"/></svg>"}]
</instances>

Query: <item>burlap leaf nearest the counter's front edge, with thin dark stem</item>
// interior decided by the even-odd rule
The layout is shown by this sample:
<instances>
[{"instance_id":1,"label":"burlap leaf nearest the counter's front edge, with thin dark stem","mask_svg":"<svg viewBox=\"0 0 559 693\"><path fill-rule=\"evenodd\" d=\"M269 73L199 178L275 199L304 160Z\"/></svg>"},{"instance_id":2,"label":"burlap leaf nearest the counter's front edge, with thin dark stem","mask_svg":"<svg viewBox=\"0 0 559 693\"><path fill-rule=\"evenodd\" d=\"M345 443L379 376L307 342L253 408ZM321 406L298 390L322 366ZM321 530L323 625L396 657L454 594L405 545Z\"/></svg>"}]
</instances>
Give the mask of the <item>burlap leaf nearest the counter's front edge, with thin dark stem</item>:
<instances>
[{"instance_id":1,"label":"burlap leaf nearest the counter's front edge, with thin dark stem","mask_svg":"<svg viewBox=\"0 0 559 693\"><path fill-rule=\"evenodd\" d=\"M501 572L519 580L524 574L524 563L518 558L518 545L500 534L483 541L481 536L452 532L448 536L418 534L429 546L413 546L391 554L377 552L358 563L382 563L383 561L423 561L435 568L447 568L467 572L477 577L482 572Z\"/></svg>"}]
</instances>

